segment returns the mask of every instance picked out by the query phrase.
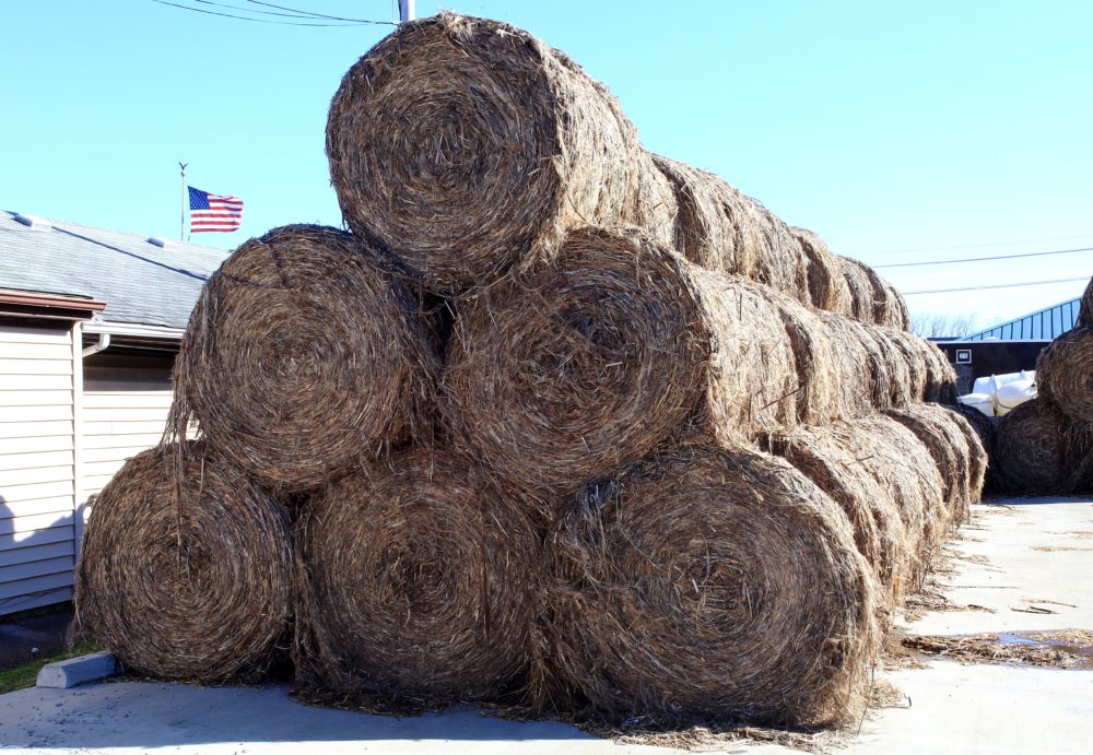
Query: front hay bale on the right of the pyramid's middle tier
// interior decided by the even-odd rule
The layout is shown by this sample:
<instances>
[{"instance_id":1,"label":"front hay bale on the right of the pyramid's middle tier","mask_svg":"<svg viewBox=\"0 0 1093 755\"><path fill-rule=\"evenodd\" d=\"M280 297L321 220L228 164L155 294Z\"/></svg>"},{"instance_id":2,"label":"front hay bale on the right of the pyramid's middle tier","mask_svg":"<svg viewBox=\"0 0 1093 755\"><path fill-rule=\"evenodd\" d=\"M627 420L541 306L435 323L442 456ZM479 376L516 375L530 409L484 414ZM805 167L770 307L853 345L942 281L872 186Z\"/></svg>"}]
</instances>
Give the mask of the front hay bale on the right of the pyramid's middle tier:
<instances>
[{"instance_id":1,"label":"front hay bale on the right of the pyramid's middle tier","mask_svg":"<svg viewBox=\"0 0 1093 755\"><path fill-rule=\"evenodd\" d=\"M443 388L477 460L554 492L640 459L689 420L719 437L792 426L799 390L763 286L598 228L460 309Z\"/></svg>"}]
</instances>

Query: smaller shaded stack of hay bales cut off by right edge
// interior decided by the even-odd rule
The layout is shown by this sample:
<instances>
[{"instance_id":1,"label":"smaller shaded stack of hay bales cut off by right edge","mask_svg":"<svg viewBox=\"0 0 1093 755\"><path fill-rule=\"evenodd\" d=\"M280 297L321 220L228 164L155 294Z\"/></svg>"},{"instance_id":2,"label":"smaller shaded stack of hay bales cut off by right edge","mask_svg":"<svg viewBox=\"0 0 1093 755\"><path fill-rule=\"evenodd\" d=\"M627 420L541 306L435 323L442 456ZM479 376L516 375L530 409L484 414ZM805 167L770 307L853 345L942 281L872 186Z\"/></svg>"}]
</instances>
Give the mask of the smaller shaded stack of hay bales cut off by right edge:
<instances>
[{"instance_id":1,"label":"smaller shaded stack of hay bales cut off by right edge","mask_svg":"<svg viewBox=\"0 0 1093 755\"><path fill-rule=\"evenodd\" d=\"M1093 493L1093 279L1073 329L1036 359L1036 385L998 423L992 479L1009 493Z\"/></svg>"}]
</instances>

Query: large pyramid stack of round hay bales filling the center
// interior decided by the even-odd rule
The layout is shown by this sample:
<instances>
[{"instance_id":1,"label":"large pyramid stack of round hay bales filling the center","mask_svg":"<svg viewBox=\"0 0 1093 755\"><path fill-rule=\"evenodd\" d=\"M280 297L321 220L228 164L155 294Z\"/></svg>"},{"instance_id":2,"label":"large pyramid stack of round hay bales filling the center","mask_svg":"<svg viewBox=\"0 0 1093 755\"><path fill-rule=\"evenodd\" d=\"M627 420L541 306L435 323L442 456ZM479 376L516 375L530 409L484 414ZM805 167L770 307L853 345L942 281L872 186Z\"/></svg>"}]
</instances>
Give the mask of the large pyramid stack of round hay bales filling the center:
<instances>
[{"instance_id":1,"label":"large pyramid stack of round hay bales filling the center","mask_svg":"<svg viewBox=\"0 0 1093 755\"><path fill-rule=\"evenodd\" d=\"M78 628L368 709L850 719L986 468L900 295L506 24L400 26L327 152L351 233L210 278Z\"/></svg>"}]
</instances>

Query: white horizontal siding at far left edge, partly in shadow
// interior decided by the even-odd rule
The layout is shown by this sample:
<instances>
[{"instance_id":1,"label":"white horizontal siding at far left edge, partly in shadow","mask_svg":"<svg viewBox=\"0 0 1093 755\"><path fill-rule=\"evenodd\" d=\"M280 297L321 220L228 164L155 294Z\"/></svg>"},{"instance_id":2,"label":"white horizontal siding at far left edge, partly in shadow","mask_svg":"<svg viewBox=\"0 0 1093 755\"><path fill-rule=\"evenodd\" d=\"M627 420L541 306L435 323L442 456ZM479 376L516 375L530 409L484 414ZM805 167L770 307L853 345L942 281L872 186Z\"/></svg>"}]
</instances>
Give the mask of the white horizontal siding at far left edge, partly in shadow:
<instances>
[{"instance_id":1,"label":"white horizontal siding at far left edge, partly in shadow","mask_svg":"<svg viewBox=\"0 0 1093 755\"><path fill-rule=\"evenodd\" d=\"M79 353L70 328L0 323L0 615L72 594Z\"/></svg>"}]
</instances>

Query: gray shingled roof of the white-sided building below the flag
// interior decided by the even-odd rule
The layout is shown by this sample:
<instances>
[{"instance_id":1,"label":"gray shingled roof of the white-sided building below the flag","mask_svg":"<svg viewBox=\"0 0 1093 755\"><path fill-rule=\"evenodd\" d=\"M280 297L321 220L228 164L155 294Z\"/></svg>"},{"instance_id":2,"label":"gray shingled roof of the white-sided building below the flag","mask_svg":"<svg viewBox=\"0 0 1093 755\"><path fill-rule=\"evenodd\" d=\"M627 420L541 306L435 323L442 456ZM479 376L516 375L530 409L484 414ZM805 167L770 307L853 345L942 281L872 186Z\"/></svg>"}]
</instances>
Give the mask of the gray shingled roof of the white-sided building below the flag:
<instances>
[{"instance_id":1,"label":"gray shingled roof of the white-sided building below the flag","mask_svg":"<svg viewBox=\"0 0 1093 755\"><path fill-rule=\"evenodd\" d=\"M90 296L106 302L107 322L186 328L205 279L228 255L68 221L30 228L15 214L0 211L0 288Z\"/></svg>"}]
</instances>

